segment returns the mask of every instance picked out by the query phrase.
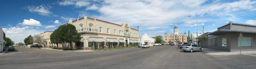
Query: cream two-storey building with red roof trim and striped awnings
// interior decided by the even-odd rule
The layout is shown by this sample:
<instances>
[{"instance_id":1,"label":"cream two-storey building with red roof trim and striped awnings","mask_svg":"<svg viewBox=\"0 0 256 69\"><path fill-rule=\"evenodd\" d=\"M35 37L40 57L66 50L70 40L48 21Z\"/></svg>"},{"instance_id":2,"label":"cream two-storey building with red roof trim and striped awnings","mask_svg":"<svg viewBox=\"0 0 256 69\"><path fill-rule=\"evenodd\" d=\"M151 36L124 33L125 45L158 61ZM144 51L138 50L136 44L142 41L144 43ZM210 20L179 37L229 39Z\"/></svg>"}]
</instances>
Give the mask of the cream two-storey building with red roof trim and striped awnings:
<instances>
[{"instance_id":1,"label":"cream two-storey building with red roof trim and striped awnings","mask_svg":"<svg viewBox=\"0 0 256 69\"><path fill-rule=\"evenodd\" d=\"M66 24L72 24L76 27L77 32L82 39L78 43L72 43L74 49L92 49L93 45L97 48L125 47L129 43L139 43L139 30L133 29L127 22L121 25L112 22L102 21L99 19L87 17L79 17L77 20L69 20ZM64 25L66 25L64 24ZM64 44L69 48L69 43Z\"/></svg>"}]
</instances>

